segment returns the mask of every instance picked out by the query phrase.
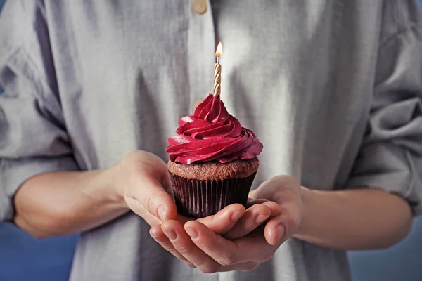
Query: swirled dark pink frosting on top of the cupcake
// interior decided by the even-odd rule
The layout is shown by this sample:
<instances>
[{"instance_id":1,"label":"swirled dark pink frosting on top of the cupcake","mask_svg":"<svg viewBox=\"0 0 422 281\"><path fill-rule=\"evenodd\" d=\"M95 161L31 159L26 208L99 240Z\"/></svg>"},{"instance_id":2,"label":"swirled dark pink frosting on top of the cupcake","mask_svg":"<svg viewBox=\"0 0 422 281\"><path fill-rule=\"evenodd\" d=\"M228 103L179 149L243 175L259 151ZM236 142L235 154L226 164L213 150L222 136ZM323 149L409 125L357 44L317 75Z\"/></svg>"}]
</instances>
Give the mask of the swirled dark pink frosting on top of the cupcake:
<instances>
[{"instance_id":1,"label":"swirled dark pink frosting on top of the cupcake","mask_svg":"<svg viewBox=\"0 0 422 281\"><path fill-rule=\"evenodd\" d=\"M177 136L167 139L165 152L180 164L253 159L262 151L255 133L229 115L219 96L208 95L193 115L179 119Z\"/></svg>"}]
</instances>

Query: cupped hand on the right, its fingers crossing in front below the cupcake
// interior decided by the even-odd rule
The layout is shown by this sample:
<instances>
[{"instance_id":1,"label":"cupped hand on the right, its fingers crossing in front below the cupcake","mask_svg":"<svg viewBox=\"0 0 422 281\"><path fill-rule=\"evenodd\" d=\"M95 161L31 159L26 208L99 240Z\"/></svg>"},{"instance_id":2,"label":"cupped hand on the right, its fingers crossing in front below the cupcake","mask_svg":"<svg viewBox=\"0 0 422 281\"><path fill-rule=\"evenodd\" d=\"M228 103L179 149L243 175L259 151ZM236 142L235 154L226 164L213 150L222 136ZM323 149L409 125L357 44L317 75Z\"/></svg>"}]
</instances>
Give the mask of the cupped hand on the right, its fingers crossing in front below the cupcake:
<instances>
[{"instance_id":1,"label":"cupped hand on the right, its fingers crossing in front below the cupcake","mask_svg":"<svg viewBox=\"0 0 422 281\"><path fill-rule=\"evenodd\" d=\"M203 218L184 226L179 221L165 221L151 228L151 236L203 273L253 270L271 259L295 233L302 217L302 200L300 185L290 176L271 178L250 195L252 206L224 233L215 233L216 222Z\"/></svg>"}]
</instances>

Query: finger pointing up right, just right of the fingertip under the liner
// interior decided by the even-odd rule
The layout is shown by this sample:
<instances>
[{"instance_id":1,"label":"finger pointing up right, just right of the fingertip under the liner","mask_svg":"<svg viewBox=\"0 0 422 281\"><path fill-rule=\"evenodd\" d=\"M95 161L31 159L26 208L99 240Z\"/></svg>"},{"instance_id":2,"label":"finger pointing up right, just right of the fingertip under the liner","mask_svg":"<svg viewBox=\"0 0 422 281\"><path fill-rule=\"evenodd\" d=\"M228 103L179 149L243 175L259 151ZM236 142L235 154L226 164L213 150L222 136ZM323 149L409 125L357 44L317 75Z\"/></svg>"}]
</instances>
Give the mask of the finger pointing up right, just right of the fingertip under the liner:
<instances>
[{"instance_id":1,"label":"finger pointing up right, just right of the fingertip under the liner","mask_svg":"<svg viewBox=\"0 0 422 281\"><path fill-rule=\"evenodd\" d=\"M245 211L245 214L228 233L224 234L224 237L229 240L243 237L267 221L270 216L271 209L269 207L264 204L255 204Z\"/></svg>"}]
</instances>

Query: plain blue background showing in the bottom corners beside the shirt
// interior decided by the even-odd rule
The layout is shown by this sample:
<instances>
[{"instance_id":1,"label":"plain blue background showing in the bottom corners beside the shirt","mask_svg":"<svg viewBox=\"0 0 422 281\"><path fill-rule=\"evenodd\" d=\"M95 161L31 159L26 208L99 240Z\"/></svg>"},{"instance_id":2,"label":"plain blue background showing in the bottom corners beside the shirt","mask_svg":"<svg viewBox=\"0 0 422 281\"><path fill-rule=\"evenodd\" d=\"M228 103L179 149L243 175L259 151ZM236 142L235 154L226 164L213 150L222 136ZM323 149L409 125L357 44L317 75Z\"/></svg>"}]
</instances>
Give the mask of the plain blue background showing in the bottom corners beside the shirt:
<instances>
[{"instance_id":1,"label":"plain blue background showing in the bottom corners beside the shirt","mask_svg":"<svg viewBox=\"0 0 422 281\"><path fill-rule=\"evenodd\" d=\"M3 4L0 0L0 10ZM76 242L77 235L36 240L10 223L0 223L0 281L68 280ZM354 281L422 281L422 217L395 247L349 256Z\"/></svg>"}]
</instances>

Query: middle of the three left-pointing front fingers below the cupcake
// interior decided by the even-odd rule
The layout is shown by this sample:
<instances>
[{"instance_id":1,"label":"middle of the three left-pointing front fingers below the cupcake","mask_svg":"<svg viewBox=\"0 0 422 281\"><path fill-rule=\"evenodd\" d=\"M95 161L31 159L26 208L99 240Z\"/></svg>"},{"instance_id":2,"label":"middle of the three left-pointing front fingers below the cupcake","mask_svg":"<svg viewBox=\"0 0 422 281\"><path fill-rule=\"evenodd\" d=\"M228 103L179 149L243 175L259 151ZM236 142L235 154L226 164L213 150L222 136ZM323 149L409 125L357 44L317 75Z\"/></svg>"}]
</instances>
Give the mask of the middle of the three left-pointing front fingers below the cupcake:
<instances>
[{"instance_id":1,"label":"middle of the three left-pointing front fingers below the cupcake","mask_svg":"<svg viewBox=\"0 0 422 281\"><path fill-rule=\"evenodd\" d=\"M204 228L206 228L206 226L204 226ZM174 249L203 273L215 273L219 271L219 264L198 249L196 244L193 244L191 237L186 234L186 231L179 222L165 221L162 223L161 229L169 238ZM213 233L211 230L209 231L210 233Z\"/></svg>"}]
</instances>

